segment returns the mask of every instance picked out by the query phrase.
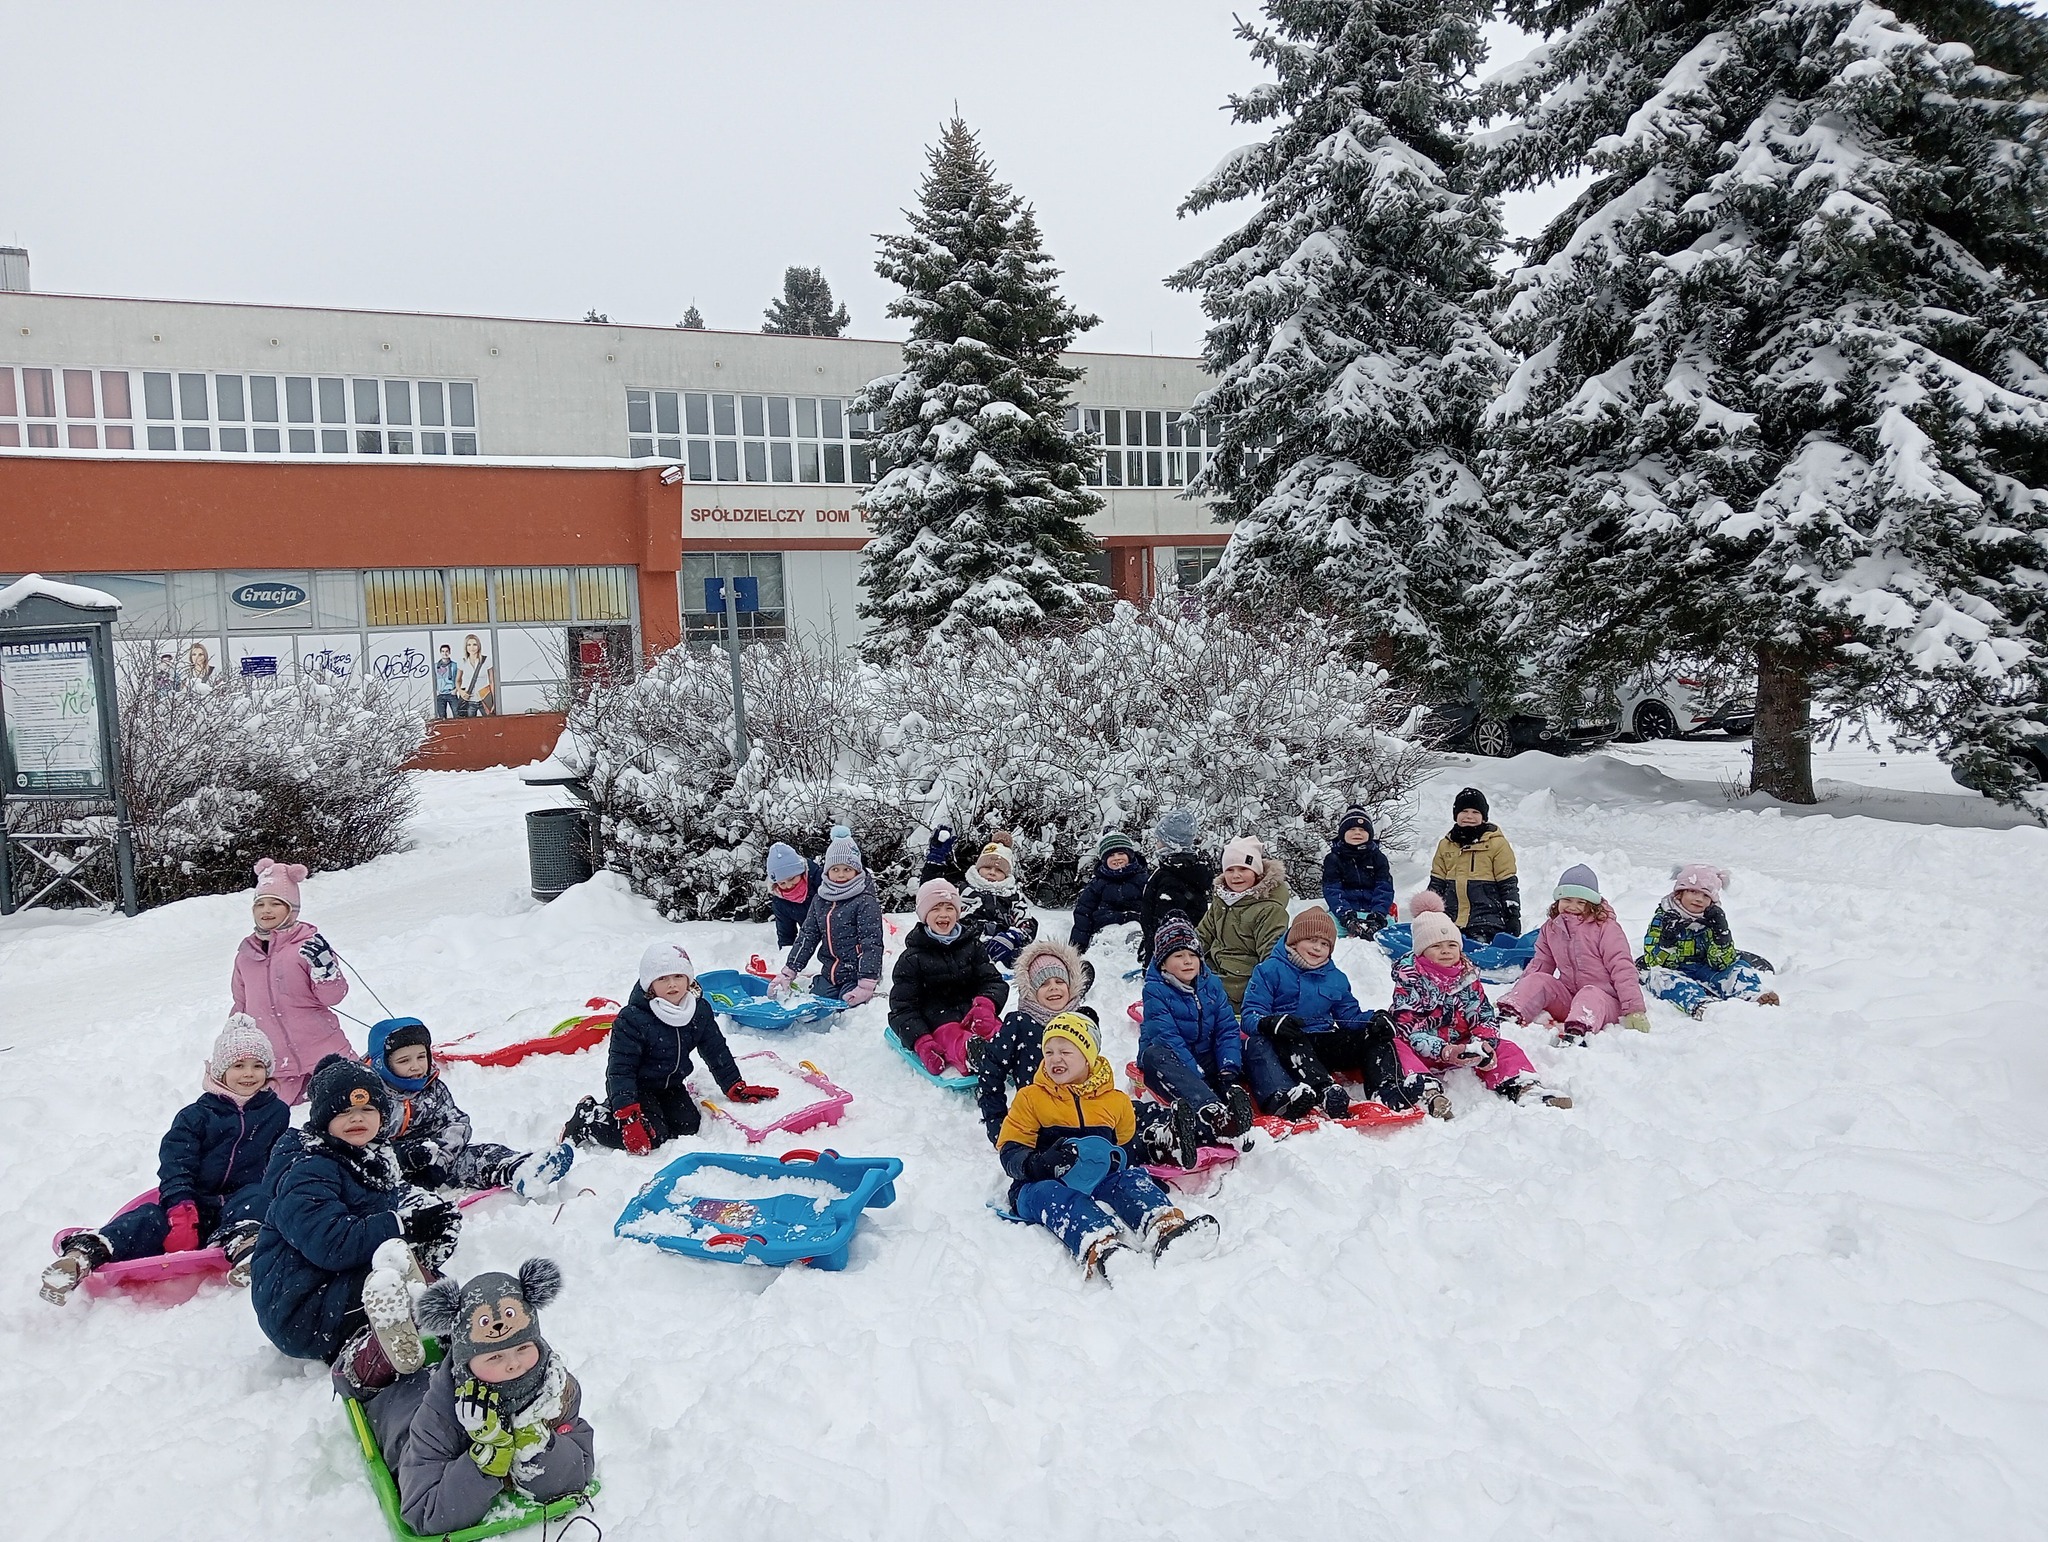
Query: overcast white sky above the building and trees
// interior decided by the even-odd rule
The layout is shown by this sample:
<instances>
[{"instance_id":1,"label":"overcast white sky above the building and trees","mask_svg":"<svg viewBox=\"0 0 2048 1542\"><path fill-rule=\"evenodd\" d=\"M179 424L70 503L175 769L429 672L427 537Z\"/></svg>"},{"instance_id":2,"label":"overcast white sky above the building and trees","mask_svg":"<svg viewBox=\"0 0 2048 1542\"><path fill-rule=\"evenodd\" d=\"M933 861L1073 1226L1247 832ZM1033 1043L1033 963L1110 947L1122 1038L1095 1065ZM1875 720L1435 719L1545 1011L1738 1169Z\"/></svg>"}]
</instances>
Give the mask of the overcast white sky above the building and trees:
<instances>
[{"instance_id":1,"label":"overcast white sky above the building and trees","mask_svg":"<svg viewBox=\"0 0 2048 1542\"><path fill-rule=\"evenodd\" d=\"M1174 215L1251 137L1233 8L0 0L0 244L39 291L735 330L805 264L897 338L874 233L958 102L1102 317L1081 346L1192 354L1161 279L1235 223Z\"/></svg>"}]
</instances>

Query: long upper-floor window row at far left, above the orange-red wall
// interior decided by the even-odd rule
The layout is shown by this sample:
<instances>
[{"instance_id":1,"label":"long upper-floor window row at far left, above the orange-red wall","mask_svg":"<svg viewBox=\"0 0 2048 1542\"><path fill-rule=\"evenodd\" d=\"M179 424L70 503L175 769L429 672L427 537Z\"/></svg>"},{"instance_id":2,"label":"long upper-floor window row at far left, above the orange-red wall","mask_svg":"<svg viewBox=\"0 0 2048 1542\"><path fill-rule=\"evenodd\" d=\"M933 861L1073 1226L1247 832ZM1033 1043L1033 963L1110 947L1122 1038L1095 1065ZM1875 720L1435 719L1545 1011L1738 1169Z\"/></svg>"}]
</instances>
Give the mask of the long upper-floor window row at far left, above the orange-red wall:
<instances>
[{"instance_id":1,"label":"long upper-floor window row at far left, above the orange-red wall","mask_svg":"<svg viewBox=\"0 0 2048 1542\"><path fill-rule=\"evenodd\" d=\"M0 365L0 448L477 455L477 385Z\"/></svg>"}]
</instances>

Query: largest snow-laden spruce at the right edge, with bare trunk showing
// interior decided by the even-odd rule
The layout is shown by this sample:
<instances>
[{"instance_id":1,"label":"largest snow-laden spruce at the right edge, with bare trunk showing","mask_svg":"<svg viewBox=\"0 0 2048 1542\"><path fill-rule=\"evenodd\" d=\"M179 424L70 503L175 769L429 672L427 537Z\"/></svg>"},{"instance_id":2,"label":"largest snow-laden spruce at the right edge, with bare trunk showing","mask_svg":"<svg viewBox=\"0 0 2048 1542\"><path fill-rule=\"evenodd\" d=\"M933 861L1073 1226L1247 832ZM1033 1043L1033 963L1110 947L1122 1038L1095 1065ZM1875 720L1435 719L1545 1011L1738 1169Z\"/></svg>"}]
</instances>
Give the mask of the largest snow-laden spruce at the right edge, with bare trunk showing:
<instances>
[{"instance_id":1,"label":"largest snow-laden spruce at the right edge, with bare trunk showing","mask_svg":"<svg viewBox=\"0 0 2048 1542\"><path fill-rule=\"evenodd\" d=\"M1495 88L1499 186L1593 172L1505 285L1497 594L1561 702L1753 657L1751 784L1796 803L1815 709L2017 797L2048 696L2044 33L1901 12L1518 0L1550 43Z\"/></svg>"}]
</instances>

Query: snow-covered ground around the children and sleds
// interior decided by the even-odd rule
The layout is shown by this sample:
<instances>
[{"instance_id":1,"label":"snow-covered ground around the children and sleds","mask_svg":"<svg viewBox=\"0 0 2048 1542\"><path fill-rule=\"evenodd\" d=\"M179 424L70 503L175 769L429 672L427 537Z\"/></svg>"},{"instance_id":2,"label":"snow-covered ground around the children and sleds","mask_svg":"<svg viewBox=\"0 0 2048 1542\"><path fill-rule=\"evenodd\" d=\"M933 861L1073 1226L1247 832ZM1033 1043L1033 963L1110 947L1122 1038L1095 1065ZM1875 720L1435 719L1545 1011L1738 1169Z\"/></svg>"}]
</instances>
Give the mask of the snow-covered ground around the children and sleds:
<instances>
[{"instance_id":1,"label":"snow-covered ground around the children and sleds","mask_svg":"<svg viewBox=\"0 0 2048 1542\"><path fill-rule=\"evenodd\" d=\"M580 1161L559 1210L477 1210L459 1272L563 1261L547 1333L612 1538L2038 1536L2048 833L1925 758L1823 756L1819 813L1731 801L1739 766L1724 743L1460 762L1395 872L1419 885L1464 782L1530 893L1589 860L1632 934L1675 862L1718 860L1788 1005L1528 1044L1571 1112L1466 1081L1452 1124L1262 1145L1210 1200L1225 1249L1200 1268L1106 1292L993 1218L969 1100L883 1046L874 1003L797 1040L856 1094L829 1143L907 1163L844 1274L616 1241L655 1167L625 1155ZM426 776L418 848L313 879L307 915L444 1036L623 993L659 922L612 881L526 897L518 817L543 801L508 772ZM12 1536L383 1530L324 1372L276 1356L246 1296L35 1298L51 1231L154 1182L246 922L229 897L0 924ZM682 932L702 967L770 942ZM1118 1065L1124 958L1098 948ZM1376 948L1339 958L1386 1001ZM735 1034L764 1044L788 1053ZM451 1071L479 1134L514 1143L600 1075L600 1053Z\"/></svg>"}]
</instances>

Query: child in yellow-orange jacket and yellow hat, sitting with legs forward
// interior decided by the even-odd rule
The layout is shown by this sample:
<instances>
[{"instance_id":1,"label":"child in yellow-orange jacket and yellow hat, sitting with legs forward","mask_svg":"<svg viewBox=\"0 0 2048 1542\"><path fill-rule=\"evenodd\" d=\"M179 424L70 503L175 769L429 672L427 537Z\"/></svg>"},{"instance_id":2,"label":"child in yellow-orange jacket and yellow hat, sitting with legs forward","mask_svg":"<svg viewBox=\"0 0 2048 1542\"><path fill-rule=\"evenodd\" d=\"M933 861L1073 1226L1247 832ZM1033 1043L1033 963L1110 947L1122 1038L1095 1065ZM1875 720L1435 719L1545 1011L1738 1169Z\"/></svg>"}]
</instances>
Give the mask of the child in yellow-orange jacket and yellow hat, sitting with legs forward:
<instances>
[{"instance_id":1,"label":"child in yellow-orange jacket and yellow hat, sitting with legs forward","mask_svg":"<svg viewBox=\"0 0 2048 1542\"><path fill-rule=\"evenodd\" d=\"M1141 1165L1135 1137L1137 1110L1116 1087L1094 1024L1059 1014L1044 1026L1038 1075L1010 1104L997 1155L1012 1180L1010 1208L1059 1237L1090 1280L1110 1280L1114 1259L1130 1251L1118 1223L1155 1263L1217 1247L1217 1218L1174 1206Z\"/></svg>"}]
</instances>

